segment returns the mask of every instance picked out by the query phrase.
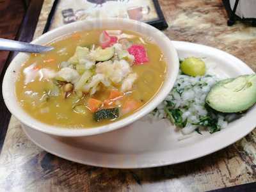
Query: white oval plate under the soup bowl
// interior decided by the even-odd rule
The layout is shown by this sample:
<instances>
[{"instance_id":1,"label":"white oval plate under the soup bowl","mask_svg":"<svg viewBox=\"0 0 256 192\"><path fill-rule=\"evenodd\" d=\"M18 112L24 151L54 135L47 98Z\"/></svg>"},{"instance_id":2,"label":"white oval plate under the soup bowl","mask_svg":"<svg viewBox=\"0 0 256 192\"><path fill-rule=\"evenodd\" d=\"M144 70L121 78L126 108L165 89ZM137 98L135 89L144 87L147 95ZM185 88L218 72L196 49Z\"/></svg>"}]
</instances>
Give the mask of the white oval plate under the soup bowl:
<instances>
[{"instance_id":1,"label":"white oval plate under the soup bowl","mask_svg":"<svg viewBox=\"0 0 256 192\"><path fill-rule=\"evenodd\" d=\"M173 44L180 58L202 57L220 77L253 73L243 61L218 49L188 42ZM181 141L182 135L168 120L152 122L147 117L123 129L81 138L58 138L25 126L24 132L39 147L70 161L108 168L147 168L182 163L227 147L254 129L255 116L253 107L220 132L193 134Z\"/></svg>"}]
</instances>

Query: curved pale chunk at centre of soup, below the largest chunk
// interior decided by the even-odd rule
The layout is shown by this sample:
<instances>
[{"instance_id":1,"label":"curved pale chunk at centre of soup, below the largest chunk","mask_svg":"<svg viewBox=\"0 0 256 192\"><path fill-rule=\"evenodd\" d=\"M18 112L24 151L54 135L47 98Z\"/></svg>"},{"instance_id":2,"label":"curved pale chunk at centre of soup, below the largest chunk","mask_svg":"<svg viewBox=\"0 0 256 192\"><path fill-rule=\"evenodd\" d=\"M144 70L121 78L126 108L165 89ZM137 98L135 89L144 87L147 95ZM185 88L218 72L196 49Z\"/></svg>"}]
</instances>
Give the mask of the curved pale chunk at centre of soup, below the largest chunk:
<instances>
[{"instance_id":1,"label":"curved pale chunk at centre of soup, below the largest chunk","mask_svg":"<svg viewBox=\"0 0 256 192\"><path fill-rule=\"evenodd\" d=\"M90 92L90 95L93 95L97 91L97 86L99 85L99 83L104 84L104 86L111 85L108 79L106 78L106 76L104 76L104 74L96 74L95 76L92 77L89 83L86 83L83 86L83 91Z\"/></svg>"}]
</instances>

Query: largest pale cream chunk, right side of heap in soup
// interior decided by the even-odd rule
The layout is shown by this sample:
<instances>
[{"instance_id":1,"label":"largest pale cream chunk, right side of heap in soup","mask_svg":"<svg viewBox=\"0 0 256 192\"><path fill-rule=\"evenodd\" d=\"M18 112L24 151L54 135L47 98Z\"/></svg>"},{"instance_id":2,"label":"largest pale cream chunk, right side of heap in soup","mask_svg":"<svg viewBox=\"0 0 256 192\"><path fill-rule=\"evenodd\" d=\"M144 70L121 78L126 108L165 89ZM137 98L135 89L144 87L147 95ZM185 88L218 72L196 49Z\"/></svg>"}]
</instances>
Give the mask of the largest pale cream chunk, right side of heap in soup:
<instances>
[{"instance_id":1,"label":"largest pale cream chunk, right side of heap in soup","mask_svg":"<svg viewBox=\"0 0 256 192\"><path fill-rule=\"evenodd\" d=\"M106 61L98 63L96 66L97 74L104 74L113 83L120 83L129 73L132 72L129 63L125 60Z\"/></svg>"}]
</instances>

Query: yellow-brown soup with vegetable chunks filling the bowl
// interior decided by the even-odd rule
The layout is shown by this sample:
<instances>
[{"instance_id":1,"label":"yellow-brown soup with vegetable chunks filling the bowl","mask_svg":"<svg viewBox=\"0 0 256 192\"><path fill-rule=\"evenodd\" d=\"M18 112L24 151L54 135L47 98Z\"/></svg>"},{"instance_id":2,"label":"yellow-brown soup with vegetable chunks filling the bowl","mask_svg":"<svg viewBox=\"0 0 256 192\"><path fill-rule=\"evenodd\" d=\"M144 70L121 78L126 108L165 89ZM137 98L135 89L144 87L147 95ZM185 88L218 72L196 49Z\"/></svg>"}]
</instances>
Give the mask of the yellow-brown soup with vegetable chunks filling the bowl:
<instances>
[{"instance_id":1,"label":"yellow-brown soup with vegetable chunks filling the bowl","mask_svg":"<svg viewBox=\"0 0 256 192\"><path fill-rule=\"evenodd\" d=\"M69 128L109 124L143 108L161 88L159 47L129 31L76 32L31 54L16 81L22 108L45 124Z\"/></svg>"}]
</instances>

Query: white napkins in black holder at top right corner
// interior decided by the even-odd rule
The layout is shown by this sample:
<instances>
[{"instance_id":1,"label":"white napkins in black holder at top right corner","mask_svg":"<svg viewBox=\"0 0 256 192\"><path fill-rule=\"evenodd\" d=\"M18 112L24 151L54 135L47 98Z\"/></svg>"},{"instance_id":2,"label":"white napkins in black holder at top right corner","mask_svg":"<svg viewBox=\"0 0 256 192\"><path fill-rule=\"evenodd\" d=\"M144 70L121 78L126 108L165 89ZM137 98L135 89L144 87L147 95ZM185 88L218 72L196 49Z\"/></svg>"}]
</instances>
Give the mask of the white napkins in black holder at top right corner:
<instances>
[{"instance_id":1,"label":"white napkins in black holder at top right corner","mask_svg":"<svg viewBox=\"0 0 256 192\"><path fill-rule=\"evenodd\" d=\"M231 9L234 9L236 0L230 0ZM236 15L241 18L256 18L256 0L240 0Z\"/></svg>"}]
</instances>

